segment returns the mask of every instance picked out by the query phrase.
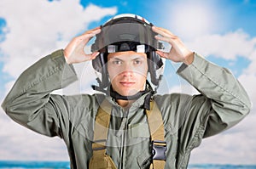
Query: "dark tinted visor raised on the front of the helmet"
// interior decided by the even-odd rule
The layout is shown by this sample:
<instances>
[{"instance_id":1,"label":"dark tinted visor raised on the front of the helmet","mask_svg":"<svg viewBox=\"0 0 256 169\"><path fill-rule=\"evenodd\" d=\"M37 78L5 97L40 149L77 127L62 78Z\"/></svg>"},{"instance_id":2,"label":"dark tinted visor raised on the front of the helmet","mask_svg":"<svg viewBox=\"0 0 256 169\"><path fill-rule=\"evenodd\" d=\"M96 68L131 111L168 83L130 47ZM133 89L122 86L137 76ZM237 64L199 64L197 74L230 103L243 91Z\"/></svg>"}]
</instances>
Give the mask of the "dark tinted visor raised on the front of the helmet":
<instances>
[{"instance_id":1,"label":"dark tinted visor raised on the front of the helmet","mask_svg":"<svg viewBox=\"0 0 256 169\"><path fill-rule=\"evenodd\" d=\"M102 26L102 32L96 35L96 42L92 45L91 51L114 53L132 50L147 53L163 49L162 43L154 36L156 33L146 24L132 22L105 25Z\"/></svg>"}]
</instances>

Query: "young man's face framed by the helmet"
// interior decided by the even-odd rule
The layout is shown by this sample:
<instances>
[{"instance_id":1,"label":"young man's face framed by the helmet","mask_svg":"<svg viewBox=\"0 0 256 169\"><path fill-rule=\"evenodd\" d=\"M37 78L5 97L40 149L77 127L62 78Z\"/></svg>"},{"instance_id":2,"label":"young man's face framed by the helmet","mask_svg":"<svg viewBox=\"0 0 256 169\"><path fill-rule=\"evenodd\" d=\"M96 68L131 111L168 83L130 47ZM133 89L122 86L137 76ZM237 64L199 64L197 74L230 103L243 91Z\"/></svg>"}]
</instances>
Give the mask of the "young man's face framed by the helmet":
<instances>
[{"instance_id":1,"label":"young man's face framed by the helmet","mask_svg":"<svg viewBox=\"0 0 256 169\"><path fill-rule=\"evenodd\" d=\"M108 54L110 82L120 95L131 96L144 90L147 72L147 54L133 51Z\"/></svg>"}]
</instances>

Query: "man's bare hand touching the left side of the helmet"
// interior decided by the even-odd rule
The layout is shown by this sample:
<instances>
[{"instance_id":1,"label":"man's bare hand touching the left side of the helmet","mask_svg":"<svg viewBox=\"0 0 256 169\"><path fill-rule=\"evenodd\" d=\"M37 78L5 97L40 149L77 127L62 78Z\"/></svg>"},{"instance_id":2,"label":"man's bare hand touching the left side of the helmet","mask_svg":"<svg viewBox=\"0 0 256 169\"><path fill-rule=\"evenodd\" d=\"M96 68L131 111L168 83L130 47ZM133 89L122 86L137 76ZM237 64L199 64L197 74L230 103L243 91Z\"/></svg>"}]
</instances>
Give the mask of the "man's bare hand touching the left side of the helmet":
<instances>
[{"instance_id":1,"label":"man's bare hand touching the left side of the helmet","mask_svg":"<svg viewBox=\"0 0 256 169\"><path fill-rule=\"evenodd\" d=\"M80 63L90 59L95 59L99 53L95 52L92 54L85 54L84 46L92 37L96 36L96 34L100 33L101 31L102 30L100 27L96 27L95 29L84 32L84 34L80 35L79 37L74 37L64 49L67 64Z\"/></svg>"}]
</instances>

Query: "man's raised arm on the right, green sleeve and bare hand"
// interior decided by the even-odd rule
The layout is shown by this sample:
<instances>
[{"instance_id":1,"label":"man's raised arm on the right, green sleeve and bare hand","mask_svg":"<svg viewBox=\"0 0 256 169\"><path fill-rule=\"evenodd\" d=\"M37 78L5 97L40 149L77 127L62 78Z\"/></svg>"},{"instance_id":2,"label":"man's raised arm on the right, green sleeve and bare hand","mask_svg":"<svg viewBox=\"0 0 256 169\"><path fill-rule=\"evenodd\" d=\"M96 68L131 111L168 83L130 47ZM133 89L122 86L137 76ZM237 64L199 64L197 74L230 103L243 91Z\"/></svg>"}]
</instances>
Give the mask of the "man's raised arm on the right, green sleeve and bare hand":
<instances>
[{"instance_id":1,"label":"man's raised arm on the right, green sleeve and bare hand","mask_svg":"<svg viewBox=\"0 0 256 169\"><path fill-rule=\"evenodd\" d=\"M192 53L171 31L156 26L153 31L160 34L161 37L156 37L157 39L172 45L169 52L157 53L174 62L183 62L177 74L201 93L192 97L186 105L189 112L187 122L191 123L187 127L192 128L185 130L191 132L195 129L195 121L199 121L196 125L204 128L204 137L212 136L234 126L249 113L251 102L230 70Z\"/></svg>"}]
</instances>

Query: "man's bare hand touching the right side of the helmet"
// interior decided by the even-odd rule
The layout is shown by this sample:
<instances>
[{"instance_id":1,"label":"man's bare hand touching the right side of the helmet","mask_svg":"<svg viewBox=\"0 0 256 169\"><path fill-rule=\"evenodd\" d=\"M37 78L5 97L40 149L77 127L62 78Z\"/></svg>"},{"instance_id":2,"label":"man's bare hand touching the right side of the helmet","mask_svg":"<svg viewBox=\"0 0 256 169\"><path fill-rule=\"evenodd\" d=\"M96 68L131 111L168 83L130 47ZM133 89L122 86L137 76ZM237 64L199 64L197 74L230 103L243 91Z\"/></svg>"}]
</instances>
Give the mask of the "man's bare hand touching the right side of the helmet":
<instances>
[{"instance_id":1,"label":"man's bare hand touching the right side of the helmet","mask_svg":"<svg viewBox=\"0 0 256 169\"><path fill-rule=\"evenodd\" d=\"M172 45L169 53L157 51L157 54L163 58L171 59L173 62L183 62L186 65L192 64L194 54L184 46L183 42L177 36L173 35L171 31L157 26L153 26L152 30L160 34L161 37L155 37L157 40L165 41Z\"/></svg>"}]
</instances>

